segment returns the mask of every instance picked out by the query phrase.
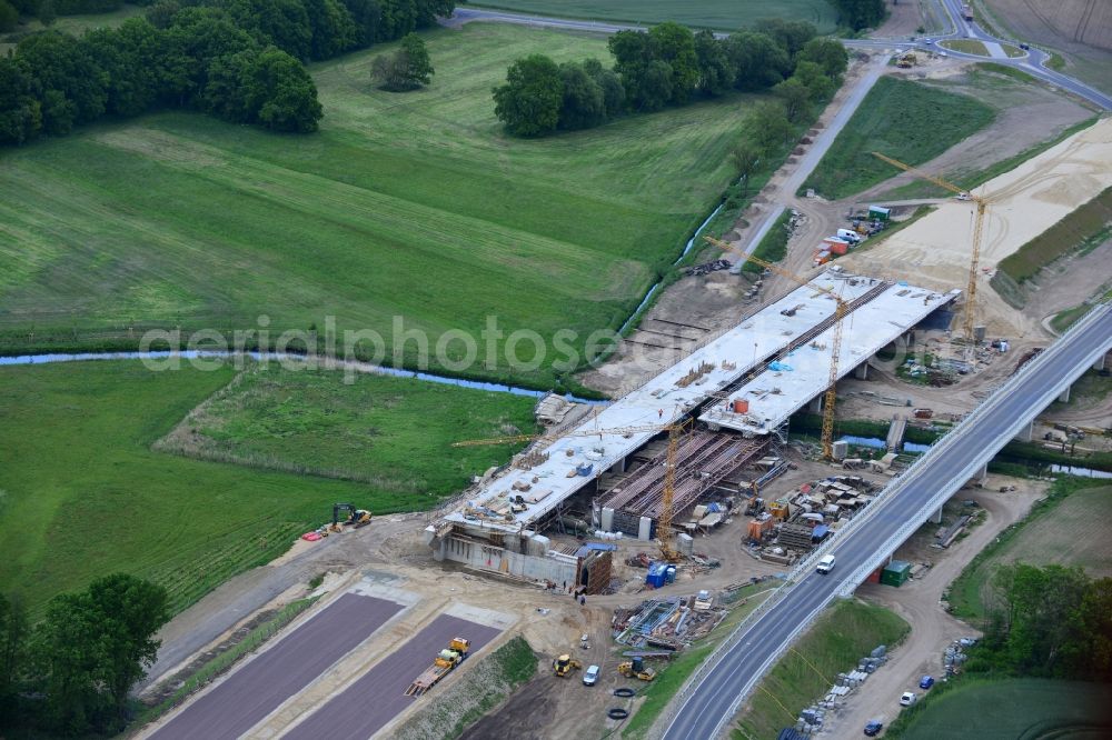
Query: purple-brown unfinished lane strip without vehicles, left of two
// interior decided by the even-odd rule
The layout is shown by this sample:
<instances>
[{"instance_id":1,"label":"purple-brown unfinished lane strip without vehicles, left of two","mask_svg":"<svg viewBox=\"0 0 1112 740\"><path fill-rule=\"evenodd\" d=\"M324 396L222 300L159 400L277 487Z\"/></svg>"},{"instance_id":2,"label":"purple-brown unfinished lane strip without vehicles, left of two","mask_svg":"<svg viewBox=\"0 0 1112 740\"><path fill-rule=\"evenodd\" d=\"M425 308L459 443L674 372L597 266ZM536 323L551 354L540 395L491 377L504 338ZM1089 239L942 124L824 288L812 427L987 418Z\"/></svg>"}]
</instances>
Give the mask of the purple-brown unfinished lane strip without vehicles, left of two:
<instances>
[{"instance_id":1,"label":"purple-brown unfinished lane strip without vehicles, left of two","mask_svg":"<svg viewBox=\"0 0 1112 740\"><path fill-rule=\"evenodd\" d=\"M401 608L393 601L345 593L190 703L150 739L235 740L241 737Z\"/></svg>"}]
</instances>

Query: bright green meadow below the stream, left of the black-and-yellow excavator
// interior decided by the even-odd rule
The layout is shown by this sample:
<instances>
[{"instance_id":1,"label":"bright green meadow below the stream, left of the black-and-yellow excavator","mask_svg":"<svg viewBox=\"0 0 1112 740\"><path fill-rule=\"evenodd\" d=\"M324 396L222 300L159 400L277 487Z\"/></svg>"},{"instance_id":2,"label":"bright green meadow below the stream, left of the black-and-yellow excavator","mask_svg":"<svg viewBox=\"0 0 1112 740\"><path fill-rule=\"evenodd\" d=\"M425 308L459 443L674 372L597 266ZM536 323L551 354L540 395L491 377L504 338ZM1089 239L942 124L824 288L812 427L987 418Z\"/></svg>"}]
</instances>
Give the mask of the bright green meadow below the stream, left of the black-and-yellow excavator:
<instances>
[{"instance_id":1,"label":"bright green meadow below the stream, left of the black-and-yellow excavator","mask_svg":"<svg viewBox=\"0 0 1112 740\"><path fill-rule=\"evenodd\" d=\"M123 570L166 586L179 610L285 551L336 501L385 513L437 500L150 450L232 376L151 372L139 362L0 368L0 591L36 609ZM507 413L500 394L446 390L445 404L466 406L473 429ZM435 471L450 439L409 439L414 474L423 464Z\"/></svg>"}]
</instances>

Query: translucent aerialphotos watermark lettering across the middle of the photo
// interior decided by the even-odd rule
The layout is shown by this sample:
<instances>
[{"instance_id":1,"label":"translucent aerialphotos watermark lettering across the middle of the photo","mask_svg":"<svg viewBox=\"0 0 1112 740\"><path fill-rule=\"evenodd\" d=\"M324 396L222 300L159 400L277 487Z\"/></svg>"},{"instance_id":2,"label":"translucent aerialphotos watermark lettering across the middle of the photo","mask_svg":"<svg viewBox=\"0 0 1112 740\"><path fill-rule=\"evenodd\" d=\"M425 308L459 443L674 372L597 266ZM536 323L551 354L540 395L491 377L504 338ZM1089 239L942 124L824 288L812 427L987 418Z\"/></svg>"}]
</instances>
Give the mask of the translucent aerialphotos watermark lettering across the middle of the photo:
<instances>
[{"instance_id":1,"label":"translucent aerialphotos watermark lettering across the middle of the photo","mask_svg":"<svg viewBox=\"0 0 1112 740\"><path fill-rule=\"evenodd\" d=\"M350 384L370 367L383 366L417 372L449 373L476 370L527 373L548 367L557 373L565 373L583 370L585 367L596 368L610 359L612 350L618 347L627 371L641 374L641 370L659 371L679 362L704 343L713 344L716 339L714 336L701 339L677 336L675 343L671 346L661 344L659 340L623 342L616 331L598 329L580 342L580 332L574 329L558 329L550 338L533 329L515 329L506 333L499 327L496 316L486 317L485 328L478 336L464 329L448 329L435 339L425 329L407 327L405 317L401 316L393 317L388 338L375 329L338 331L334 316L325 317L324 324L322 337L316 329L286 329L272 337L270 317L261 314L256 319L255 328L237 329L231 332L230 340L226 332L216 329L198 329L185 338L180 329L152 329L140 338L139 351L143 364L156 372L179 370L183 362L196 370L214 371L230 361L237 370L242 370L247 359L252 358L262 364L278 362L284 369L295 372L341 369L344 382ZM812 342L787 351L773 350L767 357L761 357L759 346L766 343L761 340L767 340L768 332L762 331L759 319L755 322L751 320L751 324L748 333L753 336L752 350L746 339L723 342L717 352L712 352L721 357L704 359L742 367L756 367L763 362L786 359L791 367L791 358L795 352L826 349L825 346ZM183 350L159 351L163 347ZM739 347L743 349L739 350ZM883 358L870 358L870 364L894 372L909 359L919 364L925 363L925 348L910 344L903 337L893 342L892 349L894 351L886 352ZM736 357L738 352L745 357ZM843 351L843 362L855 354L857 353Z\"/></svg>"}]
</instances>

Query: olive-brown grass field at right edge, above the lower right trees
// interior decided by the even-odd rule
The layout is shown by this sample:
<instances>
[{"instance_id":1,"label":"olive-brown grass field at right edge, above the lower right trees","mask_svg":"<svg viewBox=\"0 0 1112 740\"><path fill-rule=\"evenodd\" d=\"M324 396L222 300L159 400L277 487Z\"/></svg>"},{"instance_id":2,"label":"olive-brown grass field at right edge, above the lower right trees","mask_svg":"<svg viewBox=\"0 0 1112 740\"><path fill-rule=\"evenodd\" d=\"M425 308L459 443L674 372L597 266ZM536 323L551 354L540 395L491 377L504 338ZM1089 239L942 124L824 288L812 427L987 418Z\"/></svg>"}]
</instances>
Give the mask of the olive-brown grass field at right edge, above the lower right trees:
<instances>
[{"instance_id":1,"label":"olive-brown grass field at right edge, above the lower right trees","mask_svg":"<svg viewBox=\"0 0 1112 740\"><path fill-rule=\"evenodd\" d=\"M1046 499L1004 530L954 579L949 597L954 613L973 622L982 620L993 573L1004 563L1081 566L1091 578L1112 576L1112 547L1103 530L1109 517L1112 487L1100 480L1059 479Z\"/></svg>"}]
</instances>

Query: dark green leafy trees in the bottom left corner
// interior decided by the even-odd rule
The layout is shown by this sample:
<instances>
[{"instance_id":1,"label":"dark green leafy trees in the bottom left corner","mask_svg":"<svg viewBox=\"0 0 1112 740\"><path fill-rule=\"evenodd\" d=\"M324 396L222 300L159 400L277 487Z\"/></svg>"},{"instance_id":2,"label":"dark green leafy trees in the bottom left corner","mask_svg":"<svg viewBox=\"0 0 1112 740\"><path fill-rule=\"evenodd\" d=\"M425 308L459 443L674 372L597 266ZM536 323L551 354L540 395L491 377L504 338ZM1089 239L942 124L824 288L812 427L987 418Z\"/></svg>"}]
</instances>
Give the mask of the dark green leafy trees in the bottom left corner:
<instances>
[{"instance_id":1,"label":"dark green leafy trees in the bottom left corner","mask_svg":"<svg viewBox=\"0 0 1112 740\"><path fill-rule=\"evenodd\" d=\"M0 730L118 732L168 620L166 589L125 573L54 597L37 624L0 594Z\"/></svg>"}]
</instances>

